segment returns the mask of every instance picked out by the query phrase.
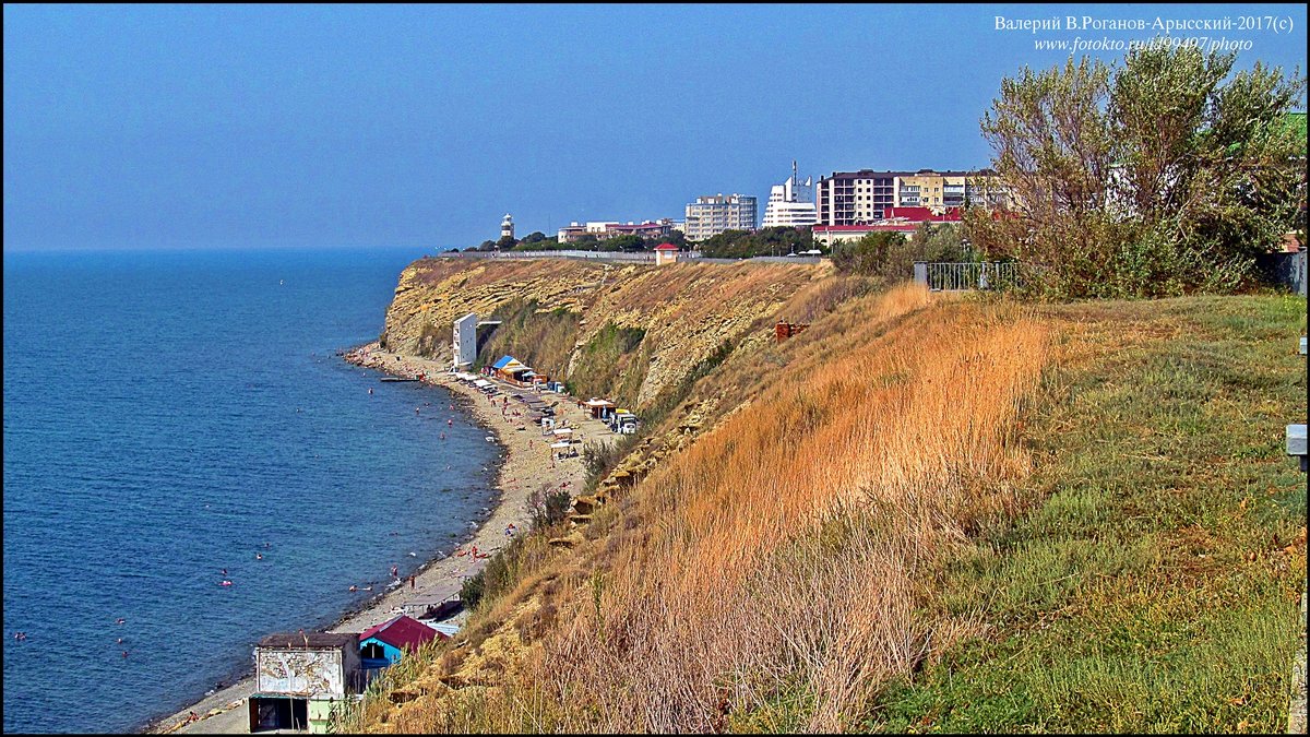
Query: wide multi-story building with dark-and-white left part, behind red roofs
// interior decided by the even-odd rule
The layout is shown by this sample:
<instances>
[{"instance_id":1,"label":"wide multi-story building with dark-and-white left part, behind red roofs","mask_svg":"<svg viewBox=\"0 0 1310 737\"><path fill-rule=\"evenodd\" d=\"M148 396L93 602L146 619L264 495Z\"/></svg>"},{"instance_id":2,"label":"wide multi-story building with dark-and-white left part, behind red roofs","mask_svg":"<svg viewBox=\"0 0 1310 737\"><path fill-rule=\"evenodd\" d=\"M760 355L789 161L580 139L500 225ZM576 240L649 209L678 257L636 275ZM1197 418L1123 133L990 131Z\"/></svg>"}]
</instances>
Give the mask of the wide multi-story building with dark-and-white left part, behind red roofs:
<instances>
[{"instance_id":1,"label":"wide multi-story building with dark-and-white left part, behind red roofs","mask_svg":"<svg viewBox=\"0 0 1310 737\"><path fill-rule=\"evenodd\" d=\"M996 173L977 172L833 172L819 180L819 223L862 226L887 218L889 207L927 207L942 214L950 207L985 205L1009 199Z\"/></svg>"}]
</instances>

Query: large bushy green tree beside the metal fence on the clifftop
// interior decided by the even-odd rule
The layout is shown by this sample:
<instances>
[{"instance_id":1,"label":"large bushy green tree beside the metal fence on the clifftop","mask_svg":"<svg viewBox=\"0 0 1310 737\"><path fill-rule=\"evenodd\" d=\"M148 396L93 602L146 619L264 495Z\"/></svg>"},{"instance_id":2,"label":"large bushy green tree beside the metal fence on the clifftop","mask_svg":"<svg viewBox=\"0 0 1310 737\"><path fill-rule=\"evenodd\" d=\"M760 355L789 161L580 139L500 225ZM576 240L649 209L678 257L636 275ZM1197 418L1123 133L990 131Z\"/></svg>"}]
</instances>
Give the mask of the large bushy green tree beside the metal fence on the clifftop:
<instances>
[{"instance_id":1,"label":"large bushy green tree beside the metal fence on the clifftop","mask_svg":"<svg viewBox=\"0 0 1310 737\"><path fill-rule=\"evenodd\" d=\"M1015 207L967 210L969 239L1040 266L1030 281L1053 296L1241 285L1303 212L1286 113L1305 84L1259 63L1231 75L1234 60L1153 43L1002 80L981 129Z\"/></svg>"}]
</instances>

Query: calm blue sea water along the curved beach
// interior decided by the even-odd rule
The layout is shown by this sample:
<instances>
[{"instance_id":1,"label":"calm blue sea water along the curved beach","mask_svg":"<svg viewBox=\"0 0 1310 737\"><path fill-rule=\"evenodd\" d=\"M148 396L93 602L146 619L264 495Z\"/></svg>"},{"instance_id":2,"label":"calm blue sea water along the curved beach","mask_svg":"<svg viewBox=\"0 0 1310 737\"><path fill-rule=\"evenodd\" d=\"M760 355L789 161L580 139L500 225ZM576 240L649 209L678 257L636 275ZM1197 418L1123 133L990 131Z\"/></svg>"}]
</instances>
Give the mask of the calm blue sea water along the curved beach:
<instances>
[{"instance_id":1,"label":"calm blue sea water along the curved beach","mask_svg":"<svg viewBox=\"0 0 1310 737\"><path fill-rule=\"evenodd\" d=\"M421 254L5 254L5 732L139 728L483 518L451 395L335 355Z\"/></svg>"}]
</instances>

